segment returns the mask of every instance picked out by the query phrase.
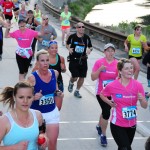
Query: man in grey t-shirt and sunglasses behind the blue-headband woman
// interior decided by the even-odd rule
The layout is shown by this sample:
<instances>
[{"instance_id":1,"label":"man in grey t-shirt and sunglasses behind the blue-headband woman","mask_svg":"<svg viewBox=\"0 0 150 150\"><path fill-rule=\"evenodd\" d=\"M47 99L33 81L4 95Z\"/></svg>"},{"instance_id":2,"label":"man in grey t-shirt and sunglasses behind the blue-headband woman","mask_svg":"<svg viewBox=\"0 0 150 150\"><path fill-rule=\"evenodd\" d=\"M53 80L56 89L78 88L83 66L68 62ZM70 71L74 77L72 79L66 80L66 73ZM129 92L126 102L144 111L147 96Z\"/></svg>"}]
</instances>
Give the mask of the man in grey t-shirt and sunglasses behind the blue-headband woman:
<instances>
[{"instance_id":1,"label":"man in grey t-shirt and sunglasses behind the blue-headband woman","mask_svg":"<svg viewBox=\"0 0 150 150\"><path fill-rule=\"evenodd\" d=\"M42 31L44 34L38 39L37 51L41 49L47 50L49 41L56 39L57 33L55 29L48 24L48 16L42 16L42 24L36 28L36 31Z\"/></svg>"}]
</instances>

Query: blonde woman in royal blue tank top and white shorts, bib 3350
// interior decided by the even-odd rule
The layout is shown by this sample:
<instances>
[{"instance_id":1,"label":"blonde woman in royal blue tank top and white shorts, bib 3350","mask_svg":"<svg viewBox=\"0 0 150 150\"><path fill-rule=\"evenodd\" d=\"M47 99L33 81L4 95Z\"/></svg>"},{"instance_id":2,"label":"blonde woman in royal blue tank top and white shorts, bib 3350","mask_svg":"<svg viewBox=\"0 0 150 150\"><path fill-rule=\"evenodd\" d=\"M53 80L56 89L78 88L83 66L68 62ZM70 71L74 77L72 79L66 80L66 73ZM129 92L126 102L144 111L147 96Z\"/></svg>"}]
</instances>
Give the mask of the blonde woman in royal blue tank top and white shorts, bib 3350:
<instances>
[{"instance_id":1,"label":"blonde woman in royal blue tank top and white shorts, bib 3350","mask_svg":"<svg viewBox=\"0 0 150 150\"><path fill-rule=\"evenodd\" d=\"M57 88L58 72L49 68L49 54L40 50L36 55L38 70L33 72L28 80L34 86L34 102L31 108L41 111L46 121L46 135L49 139L48 150L57 149L59 134L59 111L55 98L62 97L62 92Z\"/></svg>"}]
</instances>

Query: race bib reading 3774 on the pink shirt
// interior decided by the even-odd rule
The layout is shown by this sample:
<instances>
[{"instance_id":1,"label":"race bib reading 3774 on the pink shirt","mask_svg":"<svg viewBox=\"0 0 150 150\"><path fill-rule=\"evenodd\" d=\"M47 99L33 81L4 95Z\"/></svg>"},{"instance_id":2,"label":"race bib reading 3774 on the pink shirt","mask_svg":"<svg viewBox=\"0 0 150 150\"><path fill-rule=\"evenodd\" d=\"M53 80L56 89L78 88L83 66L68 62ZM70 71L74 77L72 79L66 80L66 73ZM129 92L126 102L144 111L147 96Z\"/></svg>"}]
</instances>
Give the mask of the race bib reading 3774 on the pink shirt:
<instances>
[{"instance_id":1,"label":"race bib reading 3774 on the pink shirt","mask_svg":"<svg viewBox=\"0 0 150 150\"><path fill-rule=\"evenodd\" d=\"M129 106L122 108L122 116L125 119L131 120L136 118L136 106Z\"/></svg>"}]
</instances>

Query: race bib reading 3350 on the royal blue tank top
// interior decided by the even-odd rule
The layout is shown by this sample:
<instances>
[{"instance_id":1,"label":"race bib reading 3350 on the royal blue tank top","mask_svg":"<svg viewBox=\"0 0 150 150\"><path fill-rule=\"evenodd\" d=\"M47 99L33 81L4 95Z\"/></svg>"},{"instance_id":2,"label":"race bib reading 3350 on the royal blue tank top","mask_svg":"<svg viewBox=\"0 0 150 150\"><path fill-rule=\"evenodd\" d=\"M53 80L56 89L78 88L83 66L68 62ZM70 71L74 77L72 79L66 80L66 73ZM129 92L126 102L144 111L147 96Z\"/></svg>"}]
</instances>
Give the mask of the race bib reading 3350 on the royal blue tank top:
<instances>
[{"instance_id":1,"label":"race bib reading 3350 on the royal blue tank top","mask_svg":"<svg viewBox=\"0 0 150 150\"><path fill-rule=\"evenodd\" d=\"M54 94L48 94L41 97L39 105L50 105L54 104Z\"/></svg>"}]
</instances>

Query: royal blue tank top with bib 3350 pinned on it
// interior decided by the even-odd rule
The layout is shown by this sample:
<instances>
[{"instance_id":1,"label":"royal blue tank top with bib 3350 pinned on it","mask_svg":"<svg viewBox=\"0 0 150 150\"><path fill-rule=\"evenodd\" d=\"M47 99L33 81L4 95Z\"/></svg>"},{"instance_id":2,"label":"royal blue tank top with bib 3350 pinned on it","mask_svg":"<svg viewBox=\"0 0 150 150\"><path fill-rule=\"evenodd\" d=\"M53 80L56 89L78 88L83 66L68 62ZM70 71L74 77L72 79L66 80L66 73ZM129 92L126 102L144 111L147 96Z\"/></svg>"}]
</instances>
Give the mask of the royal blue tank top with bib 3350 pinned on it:
<instances>
[{"instance_id":1,"label":"royal blue tank top with bib 3350 pinned on it","mask_svg":"<svg viewBox=\"0 0 150 150\"><path fill-rule=\"evenodd\" d=\"M52 77L48 83L41 80L36 71L32 73L35 77L36 83L34 86L34 94L42 90L43 96L39 100L33 101L31 108L39 110L41 113L51 112L56 107L54 99L54 93L56 91L56 77L53 69L49 69L49 72L52 74Z\"/></svg>"}]
</instances>

